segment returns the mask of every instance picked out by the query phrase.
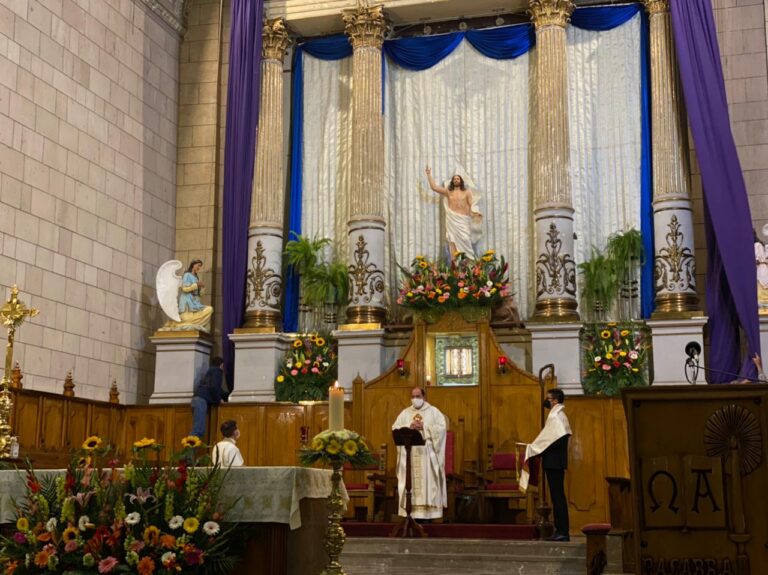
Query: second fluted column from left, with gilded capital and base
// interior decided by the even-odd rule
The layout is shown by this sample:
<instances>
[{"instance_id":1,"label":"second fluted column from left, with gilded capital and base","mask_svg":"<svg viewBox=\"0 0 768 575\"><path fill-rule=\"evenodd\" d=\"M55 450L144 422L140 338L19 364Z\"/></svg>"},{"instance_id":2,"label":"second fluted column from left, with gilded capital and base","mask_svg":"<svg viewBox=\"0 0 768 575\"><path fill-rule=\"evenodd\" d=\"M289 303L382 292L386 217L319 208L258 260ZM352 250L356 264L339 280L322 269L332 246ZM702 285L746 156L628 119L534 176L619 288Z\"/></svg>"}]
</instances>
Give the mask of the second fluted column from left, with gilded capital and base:
<instances>
[{"instance_id":1,"label":"second fluted column from left, with gilded capital and base","mask_svg":"<svg viewBox=\"0 0 768 575\"><path fill-rule=\"evenodd\" d=\"M380 324L384 305L384 119L381 47L387 23L381 4L343 13L352 43L352 159L349 190L349 324Z\"/></svg>"}]
</instances>

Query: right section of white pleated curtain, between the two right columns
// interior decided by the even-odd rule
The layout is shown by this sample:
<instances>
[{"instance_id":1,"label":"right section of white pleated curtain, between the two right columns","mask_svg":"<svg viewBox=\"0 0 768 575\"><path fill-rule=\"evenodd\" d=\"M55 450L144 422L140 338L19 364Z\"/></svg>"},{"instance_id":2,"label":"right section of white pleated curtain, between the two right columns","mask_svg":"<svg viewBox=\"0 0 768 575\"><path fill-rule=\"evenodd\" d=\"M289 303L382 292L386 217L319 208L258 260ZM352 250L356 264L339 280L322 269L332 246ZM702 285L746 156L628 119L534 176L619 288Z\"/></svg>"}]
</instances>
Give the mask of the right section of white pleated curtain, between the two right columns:
<instances>
[{"instance_id":1,"label":"right section of white pleated curtain, between the two right columns","mask_svg":"<svg viewBox=\"0 0 768 575\"><path fill-rule=\"evenodd\" d=\"M605 32L567 29L577 262L612 234L640 230L640 18Z\"/></svg>"}]
</instances>

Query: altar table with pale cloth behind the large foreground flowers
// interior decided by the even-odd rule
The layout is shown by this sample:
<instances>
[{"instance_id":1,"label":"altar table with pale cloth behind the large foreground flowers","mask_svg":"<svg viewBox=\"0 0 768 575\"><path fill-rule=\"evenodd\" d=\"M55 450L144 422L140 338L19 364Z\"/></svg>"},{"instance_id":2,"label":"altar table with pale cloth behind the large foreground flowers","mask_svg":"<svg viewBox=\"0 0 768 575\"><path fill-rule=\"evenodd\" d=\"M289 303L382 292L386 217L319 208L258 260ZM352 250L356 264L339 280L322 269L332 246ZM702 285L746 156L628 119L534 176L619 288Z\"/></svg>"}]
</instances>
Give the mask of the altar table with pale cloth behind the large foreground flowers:
<instances>
[{"instance_id":1,"label":"altar table with pale cloth behind the large foreground flowers","mask_svg":"<svg viewBox=\"0 0 768 575\"><path fill-rule=\"evenodd\" d=\"M39 470L38 477L62 469ZM26 494L23 471L0 471L0 524L15 520L13 501ZM249 543L234 573L318 575L328 557L323 548L331 471L308 467L233 467L222 489L227 522L246 524ZM348 500L342 484L342 497Z\"/></svg>"}]
</instances>

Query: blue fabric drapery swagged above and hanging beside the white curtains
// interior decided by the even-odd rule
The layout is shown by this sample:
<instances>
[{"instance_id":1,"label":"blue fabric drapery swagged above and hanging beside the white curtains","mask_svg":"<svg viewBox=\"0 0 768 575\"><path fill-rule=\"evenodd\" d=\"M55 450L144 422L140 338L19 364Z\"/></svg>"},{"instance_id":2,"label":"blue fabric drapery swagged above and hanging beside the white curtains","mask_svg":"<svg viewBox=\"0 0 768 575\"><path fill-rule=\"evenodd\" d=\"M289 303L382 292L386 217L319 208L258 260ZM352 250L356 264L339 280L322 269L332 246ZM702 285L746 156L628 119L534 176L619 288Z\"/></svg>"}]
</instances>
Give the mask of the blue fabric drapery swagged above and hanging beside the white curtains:
<instances>
[{"instance_id":1,"label":"blue fabric drapery swagged above and hanging beside the white curtains","mask_svg":"<svg viewBox=\"0 0 768 575\"><path fill-rule=\"evenodd\" d=\"M641 27L641 233L646 252L646 261L641 271L641 308L643 317L650 317L653 311L653 209L651 176L651 130L650 130L650 71L649 36L647 16L639 4L580 8L574 11L571 22L586 30L605 31L621 26L638 13L642 14ZM466 39L473 48L488 58L513 59L533 48L536 35L532 24L501 26L485 30L469 30L435 36L399 38L384 42L384 54L403 68L421 71L431 68L449 56ZM322 60L339 60L352 54L352 47L346 36L330 36L301 44L296 50L293 84L293 120L291 145L291 193L289 230L301 233L302 197L302 125L303 125L303 78L302 57L306 52ZM284 328L295 331L298 326L298 278L286 277L286 300Z\"/></svg>"}]
</instances>

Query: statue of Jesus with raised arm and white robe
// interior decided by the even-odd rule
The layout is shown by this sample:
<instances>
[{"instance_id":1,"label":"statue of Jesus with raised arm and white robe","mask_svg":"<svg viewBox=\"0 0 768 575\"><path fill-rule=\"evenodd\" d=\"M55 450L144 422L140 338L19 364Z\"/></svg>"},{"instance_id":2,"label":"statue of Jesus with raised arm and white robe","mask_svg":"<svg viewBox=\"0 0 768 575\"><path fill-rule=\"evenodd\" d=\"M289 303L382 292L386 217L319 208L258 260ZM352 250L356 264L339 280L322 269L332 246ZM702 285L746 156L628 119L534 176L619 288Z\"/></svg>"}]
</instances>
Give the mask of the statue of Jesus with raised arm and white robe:
<instances>
[{"instance_id":1,"label":"statue of Jesus with raised arm and white robe","mask_svg":"<svg viewBox=\"0 0 768 575\"><path fill-rule=\"evenodd\" d=\"M477 209L472 191L459 174L454 174L448 187L440 186L432 178L432 169L426 168L429 187L433 192L443 196L445 206L445 239L451 258L457 253L463 253L467 257L476 259L480 254L475 253L473 239L473 227L482 222L482 214ZM474 226L473 226L474 223Z\"/></svg>"}]
</instances>

